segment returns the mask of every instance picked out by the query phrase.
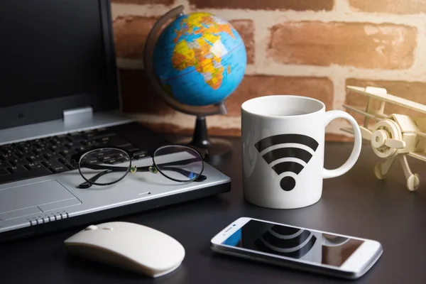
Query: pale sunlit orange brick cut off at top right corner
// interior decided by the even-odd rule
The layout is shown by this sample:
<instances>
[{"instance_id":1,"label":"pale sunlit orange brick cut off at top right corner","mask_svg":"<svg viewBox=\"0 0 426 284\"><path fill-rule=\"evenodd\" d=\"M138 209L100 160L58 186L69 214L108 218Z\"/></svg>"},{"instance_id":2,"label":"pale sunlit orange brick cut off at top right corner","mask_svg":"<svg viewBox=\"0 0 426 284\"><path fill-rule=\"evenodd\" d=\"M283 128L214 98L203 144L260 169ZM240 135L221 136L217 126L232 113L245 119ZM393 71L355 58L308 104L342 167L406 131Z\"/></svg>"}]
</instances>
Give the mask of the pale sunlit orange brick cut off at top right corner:
<instances>
[{"instance_id":1,"label":"pale sunlit orange brick cut off at top right corner","mask_svg":"<svg viewBox=\"0 0 426 284\"><path fill-rule=\"evenodd\" d=\"M370 13L426 13L426 1L423 0L349 0L349 6L354 11Z\"/></svg>"}]
</instances>

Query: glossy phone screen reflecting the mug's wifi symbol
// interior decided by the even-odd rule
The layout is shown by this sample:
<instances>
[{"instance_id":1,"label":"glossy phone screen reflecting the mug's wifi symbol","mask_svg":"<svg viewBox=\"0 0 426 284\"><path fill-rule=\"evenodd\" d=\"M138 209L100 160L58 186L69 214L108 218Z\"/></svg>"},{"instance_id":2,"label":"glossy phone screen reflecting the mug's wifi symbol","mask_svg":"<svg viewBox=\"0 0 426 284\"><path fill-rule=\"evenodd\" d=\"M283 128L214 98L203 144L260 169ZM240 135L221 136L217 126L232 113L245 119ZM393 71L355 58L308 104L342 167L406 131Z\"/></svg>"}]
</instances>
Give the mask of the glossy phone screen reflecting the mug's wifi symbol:
<instances>
[{"instance_id":1,"label":"glossy phone screen reflecting the mug's wifi symbol","mask_svg":"<svg viewBox=\"0 0 426 284\"><path fill-rule=\"evenodd\" d=\"M364 241L250 220L222 244L329 266L342 266Z\"/></svg>"}]
</instances>

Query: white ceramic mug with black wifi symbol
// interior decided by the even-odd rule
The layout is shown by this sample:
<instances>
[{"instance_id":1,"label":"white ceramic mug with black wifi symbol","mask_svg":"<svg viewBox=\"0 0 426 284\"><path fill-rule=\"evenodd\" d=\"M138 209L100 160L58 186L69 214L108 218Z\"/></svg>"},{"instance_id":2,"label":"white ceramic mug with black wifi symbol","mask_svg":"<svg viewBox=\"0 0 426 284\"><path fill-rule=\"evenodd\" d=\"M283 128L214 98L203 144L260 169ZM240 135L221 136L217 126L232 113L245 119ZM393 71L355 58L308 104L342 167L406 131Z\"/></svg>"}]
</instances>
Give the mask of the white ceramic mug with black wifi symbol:
<instances>
[{"instance_id":1,"label":"white ceramic mug with black wifi symbol","mask_svg":"<svg viewBox=\"0 0 426 284\"><path fill-rule=\"evenodd\" d=\"M337 169L324 168L325 127L347 119L354 148ZM320 200L322 180L350 170L361 152L361 131L344 111L325 111L310 97L271 95L241 105L244 198L262 207L291 209Z\"/></svg>"}]
</instances>

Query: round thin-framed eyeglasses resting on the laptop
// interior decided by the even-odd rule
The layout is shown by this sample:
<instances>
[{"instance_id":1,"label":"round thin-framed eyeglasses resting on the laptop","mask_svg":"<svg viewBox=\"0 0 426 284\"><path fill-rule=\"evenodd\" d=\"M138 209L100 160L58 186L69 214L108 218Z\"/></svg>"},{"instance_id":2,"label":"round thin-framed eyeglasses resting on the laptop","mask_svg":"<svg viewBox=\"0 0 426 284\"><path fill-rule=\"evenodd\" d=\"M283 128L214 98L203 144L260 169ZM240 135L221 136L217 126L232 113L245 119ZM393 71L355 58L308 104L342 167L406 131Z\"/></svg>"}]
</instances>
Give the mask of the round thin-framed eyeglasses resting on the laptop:
<instances>
[{"instance_id":1,"label":"round thin-framed eyeglasses resting on the laptop","mask_svg":"<svg viewBox=\"0 0 426 284\"><path fill-rule=\"evenodd\" d=\"M152 165L136 167L132 160L150 157ZM153 154L146 151L129 153L121 148L95 148L84 153L72 155L71 163L77 164L85 182L79 188L92 185L112 185L124 179L128 173L160 173L175 182L200 182L206 180L202 175L204 161L194 148L168 145L157 148Z\"/></svg>"}]
</instances>

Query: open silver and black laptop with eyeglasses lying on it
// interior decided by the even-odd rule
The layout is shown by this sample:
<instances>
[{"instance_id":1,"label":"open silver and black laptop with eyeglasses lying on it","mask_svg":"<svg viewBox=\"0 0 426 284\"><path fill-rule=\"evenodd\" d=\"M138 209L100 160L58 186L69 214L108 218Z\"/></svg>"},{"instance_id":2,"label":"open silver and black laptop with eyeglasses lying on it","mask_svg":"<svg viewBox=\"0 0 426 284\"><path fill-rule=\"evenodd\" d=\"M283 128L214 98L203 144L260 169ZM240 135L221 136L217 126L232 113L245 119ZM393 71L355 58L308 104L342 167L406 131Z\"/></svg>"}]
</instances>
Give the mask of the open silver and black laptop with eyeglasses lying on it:
<instances>
[{"instance_id":1,"label":"open silver and black laptop with eyeglasses lying on it","mask_svg":"<svg viewBox=\"0 0 426 284\"><path fill-rule=\"evenodd\" d=\"M121 111L110 5L0 1L0 241L230 190L230 178L207 163L202 182L147 172L78 187L84 180L70 156L89 146L169 144Z\"/></svg>"}]
</instances>

